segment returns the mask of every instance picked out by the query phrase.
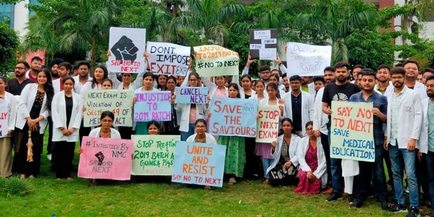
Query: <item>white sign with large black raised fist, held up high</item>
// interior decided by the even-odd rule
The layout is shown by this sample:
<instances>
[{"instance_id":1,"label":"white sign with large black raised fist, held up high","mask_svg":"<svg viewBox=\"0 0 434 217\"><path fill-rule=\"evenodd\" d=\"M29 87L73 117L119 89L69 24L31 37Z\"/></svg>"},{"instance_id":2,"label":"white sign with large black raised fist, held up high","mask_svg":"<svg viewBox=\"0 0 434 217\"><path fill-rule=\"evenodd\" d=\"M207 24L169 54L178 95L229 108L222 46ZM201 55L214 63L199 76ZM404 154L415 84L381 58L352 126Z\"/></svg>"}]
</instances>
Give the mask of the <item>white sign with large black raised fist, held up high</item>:
<instances>
[{"instance_id":1,"label":"white sign with large black raised fist, held up high","mask_svg":"<svg viewBox=\"0 0 434 217\"><path fill-rule=\"evenodd\" d=\"M109 72L140 73L146 69L146 29L111 27L108 47L107 70Z\"/></svg>"}]
</instances>

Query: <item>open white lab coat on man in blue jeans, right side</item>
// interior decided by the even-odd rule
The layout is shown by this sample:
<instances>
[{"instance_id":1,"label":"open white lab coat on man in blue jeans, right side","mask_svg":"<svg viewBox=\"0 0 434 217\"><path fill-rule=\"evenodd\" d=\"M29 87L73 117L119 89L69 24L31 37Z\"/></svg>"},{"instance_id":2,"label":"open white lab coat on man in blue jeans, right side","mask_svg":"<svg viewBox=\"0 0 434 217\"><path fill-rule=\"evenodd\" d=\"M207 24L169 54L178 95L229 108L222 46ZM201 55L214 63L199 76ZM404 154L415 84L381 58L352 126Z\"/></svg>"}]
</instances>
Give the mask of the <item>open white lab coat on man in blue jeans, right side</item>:
<instances>
[{"instance_id":1,"label":"open white lab coat on man in blue jeans, right side","mask_svg":"<svg viewBox=\"0 0 434 217\"><path fill-rule=\"evenodd\" d=\"M392 114L392 94L395 94L395 92L388 92L386 95L388 101L387 114ZM406 86L404 86L402 94L398 108L398 135L396 135L396 138L399 148L407 148L410 138L419 139L420 126L422 124L422 103L420 95ZM388 144L391 138L391 118L391 115L387 116L387 131L385 135L387 136ZM418 143L416 147L420 149Z\"/></svg>"}]
</instances>

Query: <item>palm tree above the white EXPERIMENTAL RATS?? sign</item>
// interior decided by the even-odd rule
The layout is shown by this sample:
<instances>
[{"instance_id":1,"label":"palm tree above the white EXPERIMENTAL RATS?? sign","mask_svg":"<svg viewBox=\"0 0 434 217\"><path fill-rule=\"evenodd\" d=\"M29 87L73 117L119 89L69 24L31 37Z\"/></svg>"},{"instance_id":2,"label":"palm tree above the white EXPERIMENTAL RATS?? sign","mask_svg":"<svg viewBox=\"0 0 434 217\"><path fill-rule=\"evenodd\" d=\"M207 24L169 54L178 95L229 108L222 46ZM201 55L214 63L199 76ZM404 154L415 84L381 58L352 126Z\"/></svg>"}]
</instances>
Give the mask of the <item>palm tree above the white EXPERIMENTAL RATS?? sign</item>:
<instances>
[{"instance_id":1,"label":"palm tree above the white EXPERIMENTAL RATS?? sign","mask_svg":"<svg viewBox=\"0 0 434 217\"><path fill-rule=\"evenodd\" d=\"M331 40L333 64L348 61L345 38L351 30L372 29L376 19L374 6L362 0L328 0L313 3L310 9L297 16L295 23L300 36L307 41Z\"/></svg>"}]
</instances>

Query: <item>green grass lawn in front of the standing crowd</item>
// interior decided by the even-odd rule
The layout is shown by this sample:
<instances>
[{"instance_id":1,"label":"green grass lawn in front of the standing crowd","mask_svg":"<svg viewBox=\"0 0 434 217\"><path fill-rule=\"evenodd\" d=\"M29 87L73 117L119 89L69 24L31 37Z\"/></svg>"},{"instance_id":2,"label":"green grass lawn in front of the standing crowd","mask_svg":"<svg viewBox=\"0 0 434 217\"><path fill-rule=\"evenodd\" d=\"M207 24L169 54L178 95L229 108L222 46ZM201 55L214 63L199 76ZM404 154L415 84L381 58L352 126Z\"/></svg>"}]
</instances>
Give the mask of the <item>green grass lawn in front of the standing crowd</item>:
<instances>
[{"instance_id":1,"label":"green grass lawn in front of the standing crowd","mask_svg":"<svg viewBox=\"0 0 434 217\"><path fill-rule=\"evenodd\" d=\"M78 154L74 162L77 167ZM44 152L41 174L27 180L33 191L22 197L0 195L0 216L51 216L53 213L57 216L406 215L382 211L373 198L367 199L360 209L350 209L346 198L327 202L325 195L299 195L294 193L295 186L265 186L262 180L240 181L233 186L225 183L223 188L205 191L199 186L164 179L152 181L148 177L91 186L90 180L76 178L76 174L72 181L55 180Z\"/></svg>"}]
</instances>

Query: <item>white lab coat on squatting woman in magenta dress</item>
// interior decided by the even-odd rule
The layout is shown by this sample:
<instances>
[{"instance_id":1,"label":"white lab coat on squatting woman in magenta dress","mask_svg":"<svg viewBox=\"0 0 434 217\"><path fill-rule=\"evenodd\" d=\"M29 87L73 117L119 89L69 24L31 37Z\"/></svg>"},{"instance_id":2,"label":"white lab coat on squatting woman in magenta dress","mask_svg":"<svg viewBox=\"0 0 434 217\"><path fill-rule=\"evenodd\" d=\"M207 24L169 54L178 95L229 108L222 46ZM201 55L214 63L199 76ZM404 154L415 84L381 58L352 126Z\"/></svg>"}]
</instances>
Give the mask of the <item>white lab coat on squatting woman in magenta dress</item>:
<instances>
[{"instance_id":1,"label":"white lab coat on squatting woman in magenta dress","mask_svg":"<svg viewBox=\"0 0 434 217\"><path fill-rule=\"evenodd\" d=\"M308 148L309 137L305 136L300 139L297 147L298 163L300 164L300 169L302 169L304 172L311 171L305 159ZM321 137L316 138L316 157L318 159L318 167L312 173L316 178L321 179L321 186L322 188L325 188L327 185L327 164L325 163L325 154L324 150L322 149Z\"/></svg>"}]
</instances>

